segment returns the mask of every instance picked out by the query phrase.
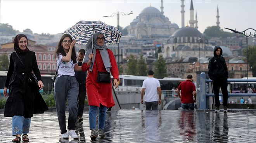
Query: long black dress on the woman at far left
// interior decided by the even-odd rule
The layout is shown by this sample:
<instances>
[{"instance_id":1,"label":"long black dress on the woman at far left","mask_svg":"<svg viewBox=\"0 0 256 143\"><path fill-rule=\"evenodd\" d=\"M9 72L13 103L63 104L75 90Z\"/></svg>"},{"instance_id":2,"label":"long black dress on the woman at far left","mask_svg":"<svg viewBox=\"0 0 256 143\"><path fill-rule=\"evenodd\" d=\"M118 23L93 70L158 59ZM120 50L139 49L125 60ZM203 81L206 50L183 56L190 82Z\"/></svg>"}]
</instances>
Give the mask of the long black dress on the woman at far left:
<instances>
[{"instance_id":1,"label":"long black dress on the woman at far left","mask_svg":"<svg viewBox=\"0 0 256 143\"><path fill-rule=\"evenodd\" d=\"M29 50L26 53L19 54L19 57L26 70L29 73L33 71L38 81L40 81L41 75L37 66L35 52ZM27 74L21 61L15 52L10 55L10 65L5 82L5 87L9 88L9 97L4 108L5 117L17 115L31 118L33 114L43 113L48 110L39 91L31 88L28 81L32 74Z\"/></svg>"}]
</instances>

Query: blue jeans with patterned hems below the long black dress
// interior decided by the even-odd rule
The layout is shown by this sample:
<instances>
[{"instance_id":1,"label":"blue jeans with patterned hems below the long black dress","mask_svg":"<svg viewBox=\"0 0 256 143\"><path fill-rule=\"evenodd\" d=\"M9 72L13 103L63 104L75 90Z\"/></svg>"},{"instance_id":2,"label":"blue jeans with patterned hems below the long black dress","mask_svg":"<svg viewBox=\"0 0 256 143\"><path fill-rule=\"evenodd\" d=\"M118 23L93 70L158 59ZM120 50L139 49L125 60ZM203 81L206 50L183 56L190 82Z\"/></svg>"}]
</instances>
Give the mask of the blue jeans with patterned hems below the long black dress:
<instances>
[{"instance_id":1,"label":"blue jeans with patterned hems below the long black dress","mask_svg":"<svg viewBox=\"0 0 256 143\"><path fill-rule=\"evenodd\" d=\"M12 117L12 135L28 134L30 128L31 118L24 118L23 116Z\"/></svg>"}]
</instances>

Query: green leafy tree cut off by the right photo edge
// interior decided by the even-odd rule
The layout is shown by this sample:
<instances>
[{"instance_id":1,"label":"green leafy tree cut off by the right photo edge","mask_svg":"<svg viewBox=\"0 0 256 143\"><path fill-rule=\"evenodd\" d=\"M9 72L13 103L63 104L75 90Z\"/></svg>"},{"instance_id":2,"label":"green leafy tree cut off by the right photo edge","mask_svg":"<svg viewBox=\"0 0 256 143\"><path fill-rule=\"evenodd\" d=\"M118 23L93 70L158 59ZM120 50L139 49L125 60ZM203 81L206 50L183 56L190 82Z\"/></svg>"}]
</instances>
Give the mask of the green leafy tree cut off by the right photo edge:
<instances>
[{"instance_id":1,"label":"green leafy tree cut off by the right photo edge","mask_svg":"<svg viewBox=\"0 0 256 143\"><path fill-rule=\"evenodd\" d=\"M247 59L247 49L243 50L243 54L246 56ZM248 46L248 70L252 69L253 77L256 77L256 46Z\"/></svg>"}]
</instances>

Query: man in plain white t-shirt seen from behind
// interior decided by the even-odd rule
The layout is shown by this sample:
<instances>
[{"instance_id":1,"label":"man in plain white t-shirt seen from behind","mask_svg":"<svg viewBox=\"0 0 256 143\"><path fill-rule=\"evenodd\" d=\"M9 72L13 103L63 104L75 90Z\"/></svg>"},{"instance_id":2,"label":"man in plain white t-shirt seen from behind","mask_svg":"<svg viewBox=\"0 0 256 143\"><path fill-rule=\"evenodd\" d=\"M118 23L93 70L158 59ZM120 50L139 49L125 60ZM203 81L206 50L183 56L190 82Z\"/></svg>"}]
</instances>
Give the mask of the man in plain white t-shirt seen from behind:
<instances>
[{"instance_id":1,"label":"man in plain white t-shirt seen from behind","mask_svg":"<svg viewBox=\"0 0 256 143\"><path fill-rule=\"evenodd\" d=\"M148 71L148 78L143 81L142 84L142 91L141 91L141 103L143 104L143 96L145 93L145 104L146 104L146 110L157 110L158 105L161 104L161 87L160 82L154 78L154 72ZM157 96L158 91L158 96Z\"/></svg>"}]
</instances>

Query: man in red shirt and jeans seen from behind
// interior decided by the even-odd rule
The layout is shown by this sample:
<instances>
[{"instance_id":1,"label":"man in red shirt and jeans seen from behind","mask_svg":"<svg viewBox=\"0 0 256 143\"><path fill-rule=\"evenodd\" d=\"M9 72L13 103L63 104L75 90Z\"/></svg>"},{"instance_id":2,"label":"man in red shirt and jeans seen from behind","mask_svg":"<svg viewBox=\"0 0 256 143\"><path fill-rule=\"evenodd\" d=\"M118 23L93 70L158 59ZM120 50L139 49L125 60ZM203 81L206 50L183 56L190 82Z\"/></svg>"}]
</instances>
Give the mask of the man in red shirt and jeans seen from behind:
<instances>
[{"instance_id":1,"label":"man in red shirt and jeans seen from behind","mask_svg":"<svg viewBox=\"0 0 256 143\"><path fill-rule=\"evenodd\" d=\"M176 90L182 103L183 110L194 110L195 108L194 103L196 102L196 91L195 84L192 82L192 79L193 76L189 74L187 76L187 81L181 82ZM181 94L180 91L182 91Z\"/></svg>"}]
</instances>

